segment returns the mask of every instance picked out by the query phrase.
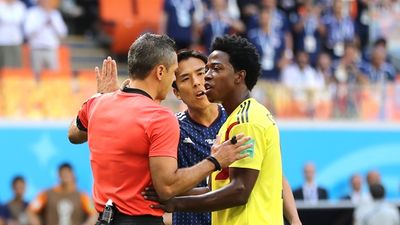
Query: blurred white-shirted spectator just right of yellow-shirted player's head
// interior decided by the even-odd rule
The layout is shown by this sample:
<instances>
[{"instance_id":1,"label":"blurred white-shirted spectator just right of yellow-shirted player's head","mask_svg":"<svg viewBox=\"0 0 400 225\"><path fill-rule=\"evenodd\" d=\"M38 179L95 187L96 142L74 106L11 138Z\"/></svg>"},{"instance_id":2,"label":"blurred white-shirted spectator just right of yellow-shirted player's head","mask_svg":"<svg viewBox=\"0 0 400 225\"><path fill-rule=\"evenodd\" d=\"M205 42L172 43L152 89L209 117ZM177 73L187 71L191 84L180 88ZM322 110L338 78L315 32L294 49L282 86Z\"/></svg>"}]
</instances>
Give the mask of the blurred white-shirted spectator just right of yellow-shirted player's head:
<instances>
[{"instance_id":1,"label":"blurred white-shirted spectator just right of yellow-shirted player's head","mask_svg":"<svg viewBox=\"0 0 400 225\"><path fill-rule=\"evenodd\" d=\"M316 97L325 88L325 79L311 67L305 51L297 52L295 63L283 69L282 83L288 88L300 114L312 117Z\"/></svg>"}]
</instances>

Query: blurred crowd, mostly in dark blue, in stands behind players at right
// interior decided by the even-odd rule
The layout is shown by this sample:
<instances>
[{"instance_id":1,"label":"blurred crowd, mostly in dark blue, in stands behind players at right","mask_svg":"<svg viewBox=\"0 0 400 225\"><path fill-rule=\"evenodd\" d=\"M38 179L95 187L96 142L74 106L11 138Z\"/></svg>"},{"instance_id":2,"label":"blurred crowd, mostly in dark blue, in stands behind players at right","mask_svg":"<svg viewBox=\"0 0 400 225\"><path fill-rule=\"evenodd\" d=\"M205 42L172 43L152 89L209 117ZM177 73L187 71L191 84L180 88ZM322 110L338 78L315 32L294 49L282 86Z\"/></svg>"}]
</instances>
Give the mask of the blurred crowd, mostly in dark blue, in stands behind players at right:
<instances>
[{"instance_id":1,"label":"blurred crowd, mostly in dark blue, in stands behind players at right","mask_svg":"<svg viewBox=\"0 0 400 225\"><path fill-rule=\"evenodd\" d=\"M399 7L395 0L166 0L160 32L178 48L206 53L216 36L247 37L261 56L255 95L278 117L367 118L368 108L385 119L396 117L388 105L400 106L397 55L389 51L398 40L387 31ZM275 99L277 87L285 98Z\"/></svg>"}]
</instances>

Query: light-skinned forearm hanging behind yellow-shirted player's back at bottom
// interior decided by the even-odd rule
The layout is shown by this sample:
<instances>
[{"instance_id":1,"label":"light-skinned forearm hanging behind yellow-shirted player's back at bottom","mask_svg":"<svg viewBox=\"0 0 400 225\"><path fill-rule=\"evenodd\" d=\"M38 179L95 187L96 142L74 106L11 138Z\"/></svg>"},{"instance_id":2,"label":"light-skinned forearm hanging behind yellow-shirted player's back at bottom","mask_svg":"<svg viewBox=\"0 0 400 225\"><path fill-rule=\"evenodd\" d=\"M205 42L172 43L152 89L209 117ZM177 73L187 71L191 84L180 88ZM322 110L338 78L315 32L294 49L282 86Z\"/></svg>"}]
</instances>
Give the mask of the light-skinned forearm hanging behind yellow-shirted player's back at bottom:
<instances>
[{"instance_id":1,"label":"light-skinned forearm hanging behind yellow-shirted player's back at bottom","mask_svg":"<svg viewBox=\"0 0 400 225\"><path fill-rule=\"evenodd\" d=\"M301 224L289 182L283 177L283 214L290 224Z\"/></svg>"}]
</instances>

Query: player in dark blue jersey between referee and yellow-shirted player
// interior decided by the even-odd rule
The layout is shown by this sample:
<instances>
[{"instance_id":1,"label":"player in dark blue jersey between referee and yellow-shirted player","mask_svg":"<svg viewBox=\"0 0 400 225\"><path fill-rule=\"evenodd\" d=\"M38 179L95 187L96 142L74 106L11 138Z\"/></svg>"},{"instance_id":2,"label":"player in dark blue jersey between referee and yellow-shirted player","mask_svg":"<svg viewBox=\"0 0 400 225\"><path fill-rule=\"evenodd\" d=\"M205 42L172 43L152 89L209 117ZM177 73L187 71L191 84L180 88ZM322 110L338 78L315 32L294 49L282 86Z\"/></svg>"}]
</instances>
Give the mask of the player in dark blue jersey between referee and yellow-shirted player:
<instances>
[{"instance_id":1,"label":"player in dark blue jersey between referee and yellow-shirted player","mask_svg":"<svg viewBox=\"0 0 400 225\"><path fill-rule=\"evenodd\" d=\"M178 70L172 87L175 96L188 108L176 114L180 127L179 168L195 165L210 155L215 136L227 118L223 107L210 103L204 94L206 63L207 57L199 52L183 50L178 53ZM198 187L207 188L206 181L202 181ZM207 191L208 188L204 192ZM172 221L173 225L209 225L211 214L174 212Z\"/></svg>"}]
</instances>

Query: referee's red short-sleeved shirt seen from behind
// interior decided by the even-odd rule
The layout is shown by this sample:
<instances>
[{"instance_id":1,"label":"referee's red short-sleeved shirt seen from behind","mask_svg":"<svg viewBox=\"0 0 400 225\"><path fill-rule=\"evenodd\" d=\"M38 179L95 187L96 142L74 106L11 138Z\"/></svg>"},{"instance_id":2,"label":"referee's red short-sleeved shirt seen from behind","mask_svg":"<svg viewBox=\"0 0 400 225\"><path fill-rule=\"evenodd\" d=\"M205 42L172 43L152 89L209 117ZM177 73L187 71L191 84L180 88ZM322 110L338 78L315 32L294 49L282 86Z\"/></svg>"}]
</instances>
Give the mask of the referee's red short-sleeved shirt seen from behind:
<instances>
[{"instance_id":1,"label":"referee's red short-sleeved shirt seen from behind","mask_svg":"<svg viewBox=\"0 0 400 225\"><path fill-rule=\"evenodd\" d=\"M174 114L146 92L125 88L89 99L78 118L88 130L96 210L112 199L122 213L161 216L140 193L151 184L149 157L177 157Z\"/></svg>"}]
</instances>

